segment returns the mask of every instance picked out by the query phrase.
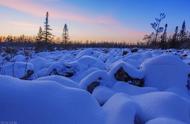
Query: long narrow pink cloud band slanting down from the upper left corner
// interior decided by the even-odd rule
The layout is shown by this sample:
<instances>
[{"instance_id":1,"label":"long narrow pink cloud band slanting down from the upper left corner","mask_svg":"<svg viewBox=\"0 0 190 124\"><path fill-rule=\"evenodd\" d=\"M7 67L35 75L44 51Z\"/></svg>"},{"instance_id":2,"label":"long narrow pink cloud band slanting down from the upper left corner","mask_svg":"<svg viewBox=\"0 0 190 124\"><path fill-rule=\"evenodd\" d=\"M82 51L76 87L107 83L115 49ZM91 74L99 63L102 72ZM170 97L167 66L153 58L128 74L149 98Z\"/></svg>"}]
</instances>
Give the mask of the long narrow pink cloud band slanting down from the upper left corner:
<instances>
[{"instance_id":1,"label":"long narrow pink cloud band slanting down from the upper left corner","mask_svg":"<svg viewBox=\"0 0 190 124\"><path fill-rule=\"evenodd\" d=\"M58 9L53 9L44 5L36 4L30 0L0 0L0 5L15 9L20 12L28 13L33 16L43 17L48 10L55 19L65 19L88 24L116 24L119 23L116 19L108 16L92 17L81 13L65 12Z\"/></svg>"}]
</instances>

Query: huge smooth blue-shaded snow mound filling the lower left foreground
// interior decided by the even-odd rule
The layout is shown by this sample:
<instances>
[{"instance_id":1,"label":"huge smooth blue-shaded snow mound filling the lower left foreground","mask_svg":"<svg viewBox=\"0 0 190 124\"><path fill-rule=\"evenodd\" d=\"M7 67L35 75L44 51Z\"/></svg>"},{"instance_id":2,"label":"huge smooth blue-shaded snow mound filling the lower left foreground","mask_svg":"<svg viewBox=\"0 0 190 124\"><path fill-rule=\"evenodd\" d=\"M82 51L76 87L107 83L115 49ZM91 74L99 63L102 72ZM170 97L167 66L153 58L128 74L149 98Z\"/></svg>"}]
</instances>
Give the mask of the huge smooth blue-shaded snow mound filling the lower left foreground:
<instances>
[{"instance_id":1,"label":"huge smooth blue-shaded snow mound filling the lower left foreground","mask_svg":"<svg viewBox=\"0 0 190 124\"><path fill-rule=\"evenodd\" d=\"M20 124L105 124L104 112L87 92L53 81L0 76L0 120Z\"/></svg>"}]
</instances>

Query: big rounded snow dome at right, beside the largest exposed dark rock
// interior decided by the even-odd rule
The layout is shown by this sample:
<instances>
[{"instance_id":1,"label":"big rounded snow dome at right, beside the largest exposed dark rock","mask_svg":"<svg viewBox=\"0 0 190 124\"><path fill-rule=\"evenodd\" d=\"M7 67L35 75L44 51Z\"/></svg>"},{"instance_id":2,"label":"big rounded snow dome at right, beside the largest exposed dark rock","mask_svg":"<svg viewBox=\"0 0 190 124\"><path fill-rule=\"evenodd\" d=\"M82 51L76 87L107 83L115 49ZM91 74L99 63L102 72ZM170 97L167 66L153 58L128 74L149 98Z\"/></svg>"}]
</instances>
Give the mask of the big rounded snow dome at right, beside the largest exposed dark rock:
<instances>
[{"instance_id":1,"label":"big rounded snow dome at right, beside the largest exposed dark rock","mask_svg":"<svg viewBox=\"0 0 190 124\"><path fill-rule=\"evenodd\" d=\"M179 57L160 55L142 64L145 86L166 90L171 87L185 89L189 67Z\"/></svg>"}]
</instances>

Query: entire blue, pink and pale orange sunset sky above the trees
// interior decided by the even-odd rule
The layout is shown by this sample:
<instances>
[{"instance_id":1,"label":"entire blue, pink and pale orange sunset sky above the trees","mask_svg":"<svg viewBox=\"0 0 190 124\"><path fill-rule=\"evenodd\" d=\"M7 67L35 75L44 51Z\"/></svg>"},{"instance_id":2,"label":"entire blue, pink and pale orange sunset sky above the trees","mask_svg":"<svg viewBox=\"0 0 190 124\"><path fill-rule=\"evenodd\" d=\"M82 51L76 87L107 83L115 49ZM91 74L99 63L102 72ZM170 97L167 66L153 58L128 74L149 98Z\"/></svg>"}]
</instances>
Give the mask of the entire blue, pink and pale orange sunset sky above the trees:
<instances>
[{"instance_id":1,"label":"entire blue, pink and pale orange sunset sky above the trees","mask_svg":"<svg viewBox=\"0 0 190 124\"><path fill-rule=\"evenodd\" d=\"M71 40L139 42L160 13L171 33L190 25L190 0L0 0L0 35L36 35L47 11L52 33L68 24Z\"/></svg>"}]
</instances>

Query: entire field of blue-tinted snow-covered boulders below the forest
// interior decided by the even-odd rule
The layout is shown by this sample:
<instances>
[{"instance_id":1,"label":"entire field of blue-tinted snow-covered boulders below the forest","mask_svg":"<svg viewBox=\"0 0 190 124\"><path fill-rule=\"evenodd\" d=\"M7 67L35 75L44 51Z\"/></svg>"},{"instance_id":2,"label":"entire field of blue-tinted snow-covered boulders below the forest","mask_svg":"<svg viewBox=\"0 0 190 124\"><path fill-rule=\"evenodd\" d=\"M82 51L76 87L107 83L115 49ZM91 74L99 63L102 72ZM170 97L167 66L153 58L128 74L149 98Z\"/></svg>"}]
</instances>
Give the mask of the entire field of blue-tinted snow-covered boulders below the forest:
<instances>
[{"instance_id":1,"label":"entire field of blue-tinted snow-covered boulders below the forest","mask_svg":"<svg viewBox=\"0 0 190 124\"><path fill-rule=\"evenodd\" d=\"M0 123L190 124L190 51L0 53Z\"/></svg>"}]
</instances>

